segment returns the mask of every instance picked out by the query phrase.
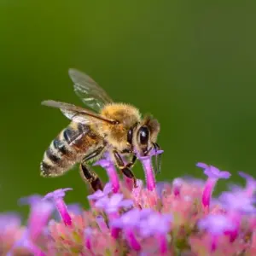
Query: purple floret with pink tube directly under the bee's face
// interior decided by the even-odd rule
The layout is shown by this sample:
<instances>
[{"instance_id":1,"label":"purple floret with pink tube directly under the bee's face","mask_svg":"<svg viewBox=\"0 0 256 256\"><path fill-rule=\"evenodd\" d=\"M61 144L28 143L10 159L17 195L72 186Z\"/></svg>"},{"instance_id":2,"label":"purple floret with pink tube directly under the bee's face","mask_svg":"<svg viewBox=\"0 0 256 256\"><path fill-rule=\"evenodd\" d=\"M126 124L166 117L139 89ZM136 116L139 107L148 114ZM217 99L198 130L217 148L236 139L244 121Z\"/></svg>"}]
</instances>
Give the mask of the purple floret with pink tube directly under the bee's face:
<instances>
[{"instance_id":1,"label":"purple floret with pink tube directly under the bee's face","mask_svg":"<svg viewBox=\"0 0 256 256\"><path fill-rule=\"evenodd\" d=\"M157 150L157 151L151 150L147 156L141 156L137 154L137 158L143 164L143 170L145 172L147 188L150 191L153 191L155 189L155 178L154 178L154 171L151 163L151 157L153 155L162 154L163 152L164 152L163 150Z\"/></svg>"}]
</instances>

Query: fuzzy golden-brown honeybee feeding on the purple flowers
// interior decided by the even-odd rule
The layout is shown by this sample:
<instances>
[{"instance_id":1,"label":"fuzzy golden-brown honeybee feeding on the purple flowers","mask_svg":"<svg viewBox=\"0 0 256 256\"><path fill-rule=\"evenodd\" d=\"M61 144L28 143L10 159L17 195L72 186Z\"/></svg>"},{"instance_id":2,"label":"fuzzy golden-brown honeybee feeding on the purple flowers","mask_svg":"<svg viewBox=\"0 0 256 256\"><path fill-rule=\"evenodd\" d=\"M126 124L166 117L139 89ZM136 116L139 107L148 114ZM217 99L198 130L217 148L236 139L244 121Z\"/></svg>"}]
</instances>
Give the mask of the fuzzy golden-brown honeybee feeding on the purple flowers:
<instances>
[{"instance_id":1,"label":"fuzzy golden-brown honeybee feeding on the purple flowers","mask_svg":"<svg viewBox=\"0 0 256 256\"><path fill-rule=\"evenodd\" d=\"M43 105L59 108L71 123L55 137L44 152L40 169L43 177L58 177L79 163L79 172L93 190L102 189L102 182L89 163L101 159L108 152L119 170L134 180L131 171L137 156L146 156L156 143L160 124L130 104L116 103L93 79L76 69L69 69L69 77L77 96L90 109L66 102L44 101ZM156 158L156 172L160 161ZM128 159L128 162L124 159Z\"/></svg>"}]
</instances>

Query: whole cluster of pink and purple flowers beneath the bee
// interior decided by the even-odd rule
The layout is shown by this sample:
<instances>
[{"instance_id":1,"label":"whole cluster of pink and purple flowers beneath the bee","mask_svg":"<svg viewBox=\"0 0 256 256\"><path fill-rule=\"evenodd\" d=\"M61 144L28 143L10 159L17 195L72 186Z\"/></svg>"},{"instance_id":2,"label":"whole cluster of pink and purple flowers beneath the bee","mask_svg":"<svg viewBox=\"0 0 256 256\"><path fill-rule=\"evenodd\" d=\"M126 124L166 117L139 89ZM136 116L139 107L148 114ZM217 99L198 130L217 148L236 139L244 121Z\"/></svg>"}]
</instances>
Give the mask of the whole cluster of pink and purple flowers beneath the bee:
<instances>
[{"instance_id":1,"label":"whole cluster of pink and purple flowers beneath the bee","mask_svg":"<svg viewBox=\"0 0 256 256\"><path fill-rule=\"evenodd\" d=\"M89 210L66 205L71 189L21 199L30 216L25 226L15 213L0 214L0 255L256 255L253 177L239 172L245 188L233 186L212 198L218 179L230 172L198 163L207 180L155 183L151 158L161 153L139 158L146 186L120 180L111 160L99 160L109 183L88 196Z\"/></svg>"}]
</instances>

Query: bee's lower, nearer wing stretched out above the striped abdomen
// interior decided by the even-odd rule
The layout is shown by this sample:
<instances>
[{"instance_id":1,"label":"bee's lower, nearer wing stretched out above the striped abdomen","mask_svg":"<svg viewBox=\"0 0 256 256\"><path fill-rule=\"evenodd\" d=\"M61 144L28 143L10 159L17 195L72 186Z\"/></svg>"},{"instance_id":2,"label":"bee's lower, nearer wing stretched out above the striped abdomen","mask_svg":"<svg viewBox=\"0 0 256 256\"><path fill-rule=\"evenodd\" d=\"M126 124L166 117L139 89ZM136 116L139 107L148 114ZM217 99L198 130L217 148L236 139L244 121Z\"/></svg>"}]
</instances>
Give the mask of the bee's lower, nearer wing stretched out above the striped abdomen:
<instances>
[{"instance_id":1,"label":"bee's lower, nearer wing stretched out above the striped abdomen","mask_svg":"<svg viewBox=\"0 0 256 256\"><path fill-rule=\"evenodd\" d=\"M98 113L93 113L90 110L66 102L44 101L42 102L42 105L52 108L59 108L68 119L72 119L77 123L90 124L101 121L112 125L117 124L117 121L115 120L105 119Z\"/></svg>"}]
</instances>

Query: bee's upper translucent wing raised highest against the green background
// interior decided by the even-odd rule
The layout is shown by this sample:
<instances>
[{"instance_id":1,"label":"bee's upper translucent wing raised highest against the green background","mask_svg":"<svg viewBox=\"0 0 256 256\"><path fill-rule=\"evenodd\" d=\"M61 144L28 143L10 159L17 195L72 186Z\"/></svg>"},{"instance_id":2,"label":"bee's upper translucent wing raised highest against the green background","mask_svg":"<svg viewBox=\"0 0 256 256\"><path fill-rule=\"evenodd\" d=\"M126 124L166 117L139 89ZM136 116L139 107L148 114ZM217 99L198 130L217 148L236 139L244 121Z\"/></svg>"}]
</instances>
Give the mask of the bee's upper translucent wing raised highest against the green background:
<instances>
[{"instance_id":1,"label":"bee's upper translucent wing raised highest against the green background","mask_svg":"<svg viewBox=\"0 0 256 256\"><path fill-rule=\"evenodd\" d=\"M75 93L89 108L99 112L104 105L113 102L107 92L87 74L73 68L68 70L68 74L73 81Z\"/></svg>"}]
</instances>

